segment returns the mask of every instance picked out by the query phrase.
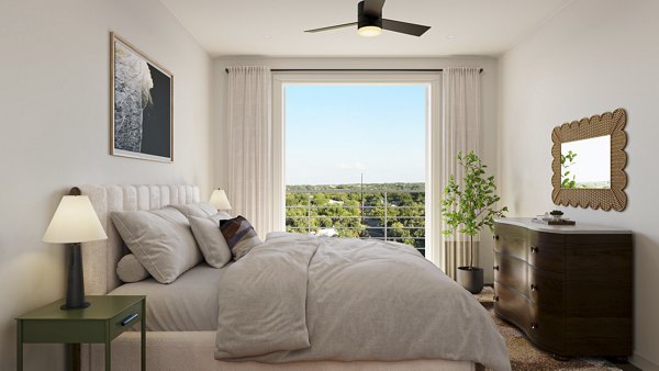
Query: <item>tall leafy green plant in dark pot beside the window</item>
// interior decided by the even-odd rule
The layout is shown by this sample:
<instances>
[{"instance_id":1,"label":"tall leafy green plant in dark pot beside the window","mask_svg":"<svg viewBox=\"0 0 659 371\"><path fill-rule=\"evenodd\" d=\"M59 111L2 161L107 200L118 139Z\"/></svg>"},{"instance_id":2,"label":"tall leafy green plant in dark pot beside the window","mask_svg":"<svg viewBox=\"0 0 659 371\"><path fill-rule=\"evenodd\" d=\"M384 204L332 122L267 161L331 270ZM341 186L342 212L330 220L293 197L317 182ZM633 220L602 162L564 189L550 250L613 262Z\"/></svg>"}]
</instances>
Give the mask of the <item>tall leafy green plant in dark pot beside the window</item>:
<instances>
[{"instance_id":1,"label":"tall leafy green plant in dark pot beside the window","mask_svg":"<svg viewBox=\"0 0 659 371\"><path fill-rule=\"evenodd\" d=\"M469 266L458 267L457 281L469 292L477 294L483 289L483 269L473 267L473 236L487 226L494 228L494 217L504 217L507 207L495 209L500 198L494 193L494 177L485 175L487 165L473 153L458 153L458 164L465 168L462 184L456 183L454 176L448 179L442 200L442 215L448 226L442 231L445 236L461 233L469 236L471 258Z\"/></svg>"}]
</instances>

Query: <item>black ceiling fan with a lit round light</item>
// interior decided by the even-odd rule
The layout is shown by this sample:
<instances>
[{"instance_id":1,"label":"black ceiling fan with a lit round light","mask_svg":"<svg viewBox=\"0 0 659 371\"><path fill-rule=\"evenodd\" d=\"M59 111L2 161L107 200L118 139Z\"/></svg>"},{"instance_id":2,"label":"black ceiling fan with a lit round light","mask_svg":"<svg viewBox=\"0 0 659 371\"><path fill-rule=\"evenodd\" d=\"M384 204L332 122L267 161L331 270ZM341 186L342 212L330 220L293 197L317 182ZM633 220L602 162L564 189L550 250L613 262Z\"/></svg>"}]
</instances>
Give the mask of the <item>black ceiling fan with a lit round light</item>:
<instances>
[{"instance_id":1,"label":"black ceiling fan with a lit round light","mask_svg":"<svg viewBox=\"0 0 659 371\"><path fill-rule=\"evenodd\" d=\"M306 30L304 32L322 32L357 25L361 36L378 36L382 30L400 32L407 35L421 36L431 30L427 25L393 21L382 18L384 0L362 0L357 4L357 22L331 25L328 27Z\"/></svg>"}]
</instances>

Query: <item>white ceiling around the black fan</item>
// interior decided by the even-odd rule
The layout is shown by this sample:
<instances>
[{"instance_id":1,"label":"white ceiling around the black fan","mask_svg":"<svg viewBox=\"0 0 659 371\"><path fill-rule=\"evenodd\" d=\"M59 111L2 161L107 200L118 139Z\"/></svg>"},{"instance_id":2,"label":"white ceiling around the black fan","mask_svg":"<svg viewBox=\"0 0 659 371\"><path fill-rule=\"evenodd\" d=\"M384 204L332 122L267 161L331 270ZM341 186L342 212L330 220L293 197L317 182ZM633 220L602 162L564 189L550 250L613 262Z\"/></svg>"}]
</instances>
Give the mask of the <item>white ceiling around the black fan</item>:
<instances>
[{"instance_id":1,"label":"white ceiling around the black fan","mask_svg":"<svg viewBox=\"0 0 659 371\"><path fill-rule=\"evenodd\" d=\"M356 27L358 0L160 0L212 56L494 56L572 0L388 0L383 16L432 26L422 37Z\"/></svg>"}]
</instances>

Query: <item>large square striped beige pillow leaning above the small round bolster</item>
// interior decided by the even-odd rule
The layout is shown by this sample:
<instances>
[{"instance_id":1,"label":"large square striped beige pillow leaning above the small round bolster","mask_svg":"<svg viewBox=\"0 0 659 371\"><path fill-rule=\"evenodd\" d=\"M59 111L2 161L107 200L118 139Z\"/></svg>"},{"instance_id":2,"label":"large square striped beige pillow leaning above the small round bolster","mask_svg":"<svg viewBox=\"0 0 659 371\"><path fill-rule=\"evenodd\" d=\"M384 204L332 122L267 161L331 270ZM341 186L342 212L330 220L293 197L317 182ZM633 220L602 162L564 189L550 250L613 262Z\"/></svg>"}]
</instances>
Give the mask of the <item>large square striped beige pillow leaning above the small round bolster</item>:
<instances>
[{"instance_id":1,"label":"large square striped beige pillow leaning above the small round bolster","mask_svg":"<svg viewBox=\"0 0 659 371\"><path fill-rule=\"evenodd\" d=\"M203 257L190 223L176 209L113 212L112 222L135 258L160 283L171 283Z\"/></svg>"}]
</instances>

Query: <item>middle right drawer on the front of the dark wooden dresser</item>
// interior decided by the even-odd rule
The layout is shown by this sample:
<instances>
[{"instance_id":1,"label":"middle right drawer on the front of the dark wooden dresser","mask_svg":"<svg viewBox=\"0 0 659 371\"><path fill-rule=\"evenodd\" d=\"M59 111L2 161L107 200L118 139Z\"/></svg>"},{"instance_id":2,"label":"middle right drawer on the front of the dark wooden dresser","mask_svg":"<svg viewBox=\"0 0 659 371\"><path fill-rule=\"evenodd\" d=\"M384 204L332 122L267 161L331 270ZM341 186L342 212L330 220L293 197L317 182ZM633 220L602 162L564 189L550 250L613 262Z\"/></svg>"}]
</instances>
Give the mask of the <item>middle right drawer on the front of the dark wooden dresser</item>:
<instances>
[{"instance_id":1,"label":"middle right drawer on the front of the dark wooden dresser","mask_svg":"<svg viewBox=\"0 0 659 371\"><path fill-rule=\"evenodd\" d=\"M545 313L562 315L563 276L528 266L528 297Z\"/></svg>"}]
</instances>

